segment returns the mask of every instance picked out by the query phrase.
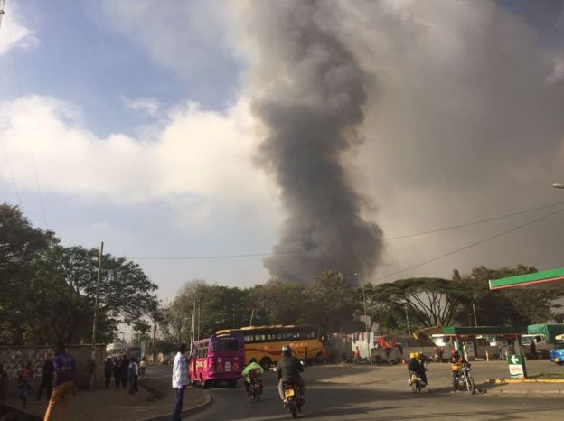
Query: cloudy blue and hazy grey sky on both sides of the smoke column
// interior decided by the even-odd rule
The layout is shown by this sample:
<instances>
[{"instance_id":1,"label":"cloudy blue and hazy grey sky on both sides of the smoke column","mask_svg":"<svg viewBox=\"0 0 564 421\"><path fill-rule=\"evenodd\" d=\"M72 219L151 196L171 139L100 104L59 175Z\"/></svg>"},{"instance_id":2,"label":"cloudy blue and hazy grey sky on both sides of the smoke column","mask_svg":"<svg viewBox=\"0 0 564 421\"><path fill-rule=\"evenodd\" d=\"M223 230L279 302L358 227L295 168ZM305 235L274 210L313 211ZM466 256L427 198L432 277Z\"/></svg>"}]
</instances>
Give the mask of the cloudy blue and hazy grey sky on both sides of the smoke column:
<instances>
[{"instance_id":1,"label":"cloudy blue and hazy grey sky on both sides of the smoke column","mask_svg":"<svg viewBox=\"0 0 564 421\"><path fill-rule=\"evenodd\" d=\"M339 7L346 19L334 32L379 84L365 142L343 163L384 237L559 201L550 182L564 178L562 2ZM359 11L366 22L355 23ZM246 2L6 0L0 198L63 244L103 240L118 256L271 250L285 211L276 184L253 163L263 127L249 101L283 75L268 69L277 45L261 50L259 17ZM522 218L390 243L373 278L392 280L386 274ZM561 266L558 226L541 221L399 276ZM139 262L164 299L193 278L268 279L260 257Z\"/></svg>"}]
</instances>

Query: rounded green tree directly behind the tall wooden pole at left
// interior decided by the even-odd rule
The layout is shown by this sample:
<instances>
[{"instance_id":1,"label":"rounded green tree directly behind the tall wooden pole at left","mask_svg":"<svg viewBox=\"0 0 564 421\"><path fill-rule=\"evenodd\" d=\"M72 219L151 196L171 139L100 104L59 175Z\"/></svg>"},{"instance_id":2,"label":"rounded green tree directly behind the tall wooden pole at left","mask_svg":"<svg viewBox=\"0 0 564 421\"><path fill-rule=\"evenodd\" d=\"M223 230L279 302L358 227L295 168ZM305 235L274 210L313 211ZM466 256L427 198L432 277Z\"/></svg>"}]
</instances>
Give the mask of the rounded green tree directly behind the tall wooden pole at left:
<instances>
[{"instance_id":1,"label":"rounded green tree directly behind the tall wooden pole at left","mask_svg":"<svg viewBox=\"0 0 564 421\"><path fill-rule=\"evenodd\" d=\"M109 254L102 256L99 285L99 323L97 337L109 341L118 323L146 332L147 318L156 312L157 286L136 263ZM54 303L59 308L53 330L65 341L91 338L99 250L80 246L52 247L45 256L52 284L57 285ZM86 322L86 323L85 323Z\"/></svg>"}]
</instances>

